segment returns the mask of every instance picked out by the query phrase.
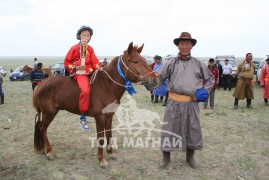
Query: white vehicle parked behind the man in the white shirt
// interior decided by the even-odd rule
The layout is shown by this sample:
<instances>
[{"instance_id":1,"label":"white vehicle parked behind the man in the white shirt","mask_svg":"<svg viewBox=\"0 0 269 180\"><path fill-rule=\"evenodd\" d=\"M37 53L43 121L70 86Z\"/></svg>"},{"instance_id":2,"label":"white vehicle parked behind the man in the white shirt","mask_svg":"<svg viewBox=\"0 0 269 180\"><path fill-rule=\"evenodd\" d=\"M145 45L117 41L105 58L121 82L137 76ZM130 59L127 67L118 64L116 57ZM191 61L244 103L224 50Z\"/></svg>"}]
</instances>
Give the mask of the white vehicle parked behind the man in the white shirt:
<instances>
[{"instance_id":1,"label":"white vehicle parked behind the man in the white shirt","mask_svg":"<svg viewBox=\"0 0 269 180\"><path fill-rule=\"evenodd\" d=\"M236 83L237 83L237 80L238 80L238 77L237 77L237 62L235 60L235 56L234 55L216 56L215 60L219 60L220 64L223 66L225 59L228 59L229 64L232 65L232 79L231 79L231 82L235 86Z\"/></svg>"}]
</instances>

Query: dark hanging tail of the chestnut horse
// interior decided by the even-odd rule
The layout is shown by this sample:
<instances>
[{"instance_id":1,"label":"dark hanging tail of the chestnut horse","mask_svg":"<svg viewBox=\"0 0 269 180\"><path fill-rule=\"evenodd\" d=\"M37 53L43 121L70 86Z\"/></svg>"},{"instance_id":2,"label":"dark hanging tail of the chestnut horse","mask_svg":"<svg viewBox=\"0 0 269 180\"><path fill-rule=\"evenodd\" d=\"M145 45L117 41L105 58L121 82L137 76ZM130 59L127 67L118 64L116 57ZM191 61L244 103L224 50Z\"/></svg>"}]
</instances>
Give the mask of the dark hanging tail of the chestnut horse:
<instances>
[{"instance_id":1,"label":"dark hanging tail of the chestnut horse","mask_svg":"<svg viewBox=\"0 0 269 180\"><path fill-rule=\"evenodd\" d=\"M37 113L35 116L35 133L34 133L34 147L37 152L44 149L44 139L41 133L41 112Z\"/></svg>"}]
</instances>

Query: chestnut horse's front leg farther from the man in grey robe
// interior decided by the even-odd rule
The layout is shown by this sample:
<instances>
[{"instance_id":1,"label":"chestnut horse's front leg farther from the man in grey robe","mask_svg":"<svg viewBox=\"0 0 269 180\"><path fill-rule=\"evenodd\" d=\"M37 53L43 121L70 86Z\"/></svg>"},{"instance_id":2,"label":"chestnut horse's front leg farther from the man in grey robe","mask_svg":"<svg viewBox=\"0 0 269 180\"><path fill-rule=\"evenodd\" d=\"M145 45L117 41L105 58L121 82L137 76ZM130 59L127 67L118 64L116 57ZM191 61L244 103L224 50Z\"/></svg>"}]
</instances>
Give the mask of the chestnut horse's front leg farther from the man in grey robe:
<instances>
[{"instance_id":1,"label":"chestnut horse's front leg farther from the man in grey robe","mask_svg":"<svg viewBox=\"0 0 269 180\"><path fill-rule=\"evenodd\" d=\"M107 161L104 159L103 146L104 146L104 136L105 136L105 116L101 115L95 119L96 130L97 130L97 145L98 145L98 160L99 165L102 168L108 166Z\"/></svg>"}]
</instances>

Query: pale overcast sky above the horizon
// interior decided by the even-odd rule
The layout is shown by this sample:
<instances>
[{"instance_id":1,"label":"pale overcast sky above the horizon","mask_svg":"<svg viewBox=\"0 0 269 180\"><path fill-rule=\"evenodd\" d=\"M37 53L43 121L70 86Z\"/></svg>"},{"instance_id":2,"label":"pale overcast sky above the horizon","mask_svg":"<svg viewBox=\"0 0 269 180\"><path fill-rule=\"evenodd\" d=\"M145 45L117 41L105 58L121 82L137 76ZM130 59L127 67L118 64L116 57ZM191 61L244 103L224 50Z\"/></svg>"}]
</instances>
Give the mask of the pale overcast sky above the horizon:
<instances>
[{"instance_id":1,"label":"pale overcast sky above the horizon","mask_svg":"<svg viewBox=\"0 0 269 180\"><path fill-rule=\"evenodd\" d=\"M269 54L268 0L1 0L0 56L65 56L80 26L93 29L97 56L130 42L142 55L177 54L181 32L197 39L195 57Z\"/></svg>"}]
</instances>

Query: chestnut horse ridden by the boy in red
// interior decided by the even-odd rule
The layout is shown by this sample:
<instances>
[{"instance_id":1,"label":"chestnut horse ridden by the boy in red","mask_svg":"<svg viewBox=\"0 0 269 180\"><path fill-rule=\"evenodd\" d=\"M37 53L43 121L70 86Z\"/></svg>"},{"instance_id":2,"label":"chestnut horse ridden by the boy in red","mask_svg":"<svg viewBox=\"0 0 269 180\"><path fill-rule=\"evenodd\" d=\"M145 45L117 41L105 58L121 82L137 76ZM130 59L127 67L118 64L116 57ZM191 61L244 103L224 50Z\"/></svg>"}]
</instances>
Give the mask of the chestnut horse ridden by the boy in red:
<instances>
[{"instance_id":1,"label":"chestnut horse ridden by the boy in red","mask_svg":"<svg viewBox=\"0 0 269 180\"><path fill-rule=\"evenodd\" d=\"M108 165L103 156L104 137L106 137L108 157L115 158L111 147L111 128L116 110L114 108L114 110L105 111L104 109L109 109L115 103L118 106L125 92L125 80L120 76L117 65L130 82L146 85L150 89L158 86L157 75L140 55L143 46L144 44L138 48L130 43L122 56L115 57L109 65L104 67L103 71L96 71L90 79L90 103L85 114L95 118L99 142L98 160L101 167L105 168ZM53 159L53 152L47 137L47 128L59 110L80 114L79 94L77 82L71 77L50 77L35 88L33 104L37 115L34 147L36 151L45 153L48 159Z\"/></svg>"}]
</instances>

